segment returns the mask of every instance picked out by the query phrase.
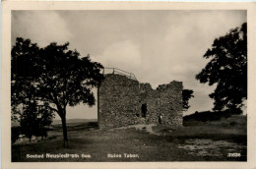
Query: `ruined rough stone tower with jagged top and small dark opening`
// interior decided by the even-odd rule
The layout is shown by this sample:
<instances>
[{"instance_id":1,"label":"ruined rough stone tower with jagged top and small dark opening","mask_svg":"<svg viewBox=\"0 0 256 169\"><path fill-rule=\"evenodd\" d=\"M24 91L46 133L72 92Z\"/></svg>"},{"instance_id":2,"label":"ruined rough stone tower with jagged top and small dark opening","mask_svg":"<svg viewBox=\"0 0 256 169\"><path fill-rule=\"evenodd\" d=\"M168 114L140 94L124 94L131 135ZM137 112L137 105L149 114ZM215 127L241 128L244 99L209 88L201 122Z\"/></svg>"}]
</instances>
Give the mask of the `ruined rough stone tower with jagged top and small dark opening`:
<instances>
[{"instance_id":1,"label":"ruined rough stone tower with jagged top and small dark opening","mask_svg":"<svg viewBox=\"0 0 256 169\"><path fill-rule=\"evenodd\" d=\"M182 83L151 84L107 74L98 88L98 126L116 128L135 124L182 125Z\"/></svg>"}]
</instances>

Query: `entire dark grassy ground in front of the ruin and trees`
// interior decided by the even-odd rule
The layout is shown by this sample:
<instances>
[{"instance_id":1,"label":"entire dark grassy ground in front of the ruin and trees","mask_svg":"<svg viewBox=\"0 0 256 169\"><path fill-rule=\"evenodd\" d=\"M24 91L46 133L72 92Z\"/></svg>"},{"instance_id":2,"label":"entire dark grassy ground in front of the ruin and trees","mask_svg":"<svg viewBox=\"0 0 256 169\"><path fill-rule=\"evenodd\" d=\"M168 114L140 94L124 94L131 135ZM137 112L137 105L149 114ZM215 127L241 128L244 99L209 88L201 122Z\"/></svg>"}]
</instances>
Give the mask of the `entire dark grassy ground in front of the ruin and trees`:
<instances>
[{"instance_id":1,"label":"entire dark grassy ground in front of the ruin and trees","mask_svg":"<svg viewBox=\"0 0 256 169\"><path fill-rule=\"evenodd\" d=\"M14 143L12 161L246 160L246 117L230 117L197 125L189 122L176 129L155 126L153 131L156 135L135 128L98 130L96 122L72 123L68 126L69 147L64 148L61 126L54 125L44 141ZM46 158L46 153L69 153L79 157ZM133 157L125 157L124 153L133 154ZM230 157L228 153L239 153L240 156ZM27 154L43 154L44 158L27 158ZM121 157L113 158L109 154L120 154Z\"/></svg>"}]
</instances>

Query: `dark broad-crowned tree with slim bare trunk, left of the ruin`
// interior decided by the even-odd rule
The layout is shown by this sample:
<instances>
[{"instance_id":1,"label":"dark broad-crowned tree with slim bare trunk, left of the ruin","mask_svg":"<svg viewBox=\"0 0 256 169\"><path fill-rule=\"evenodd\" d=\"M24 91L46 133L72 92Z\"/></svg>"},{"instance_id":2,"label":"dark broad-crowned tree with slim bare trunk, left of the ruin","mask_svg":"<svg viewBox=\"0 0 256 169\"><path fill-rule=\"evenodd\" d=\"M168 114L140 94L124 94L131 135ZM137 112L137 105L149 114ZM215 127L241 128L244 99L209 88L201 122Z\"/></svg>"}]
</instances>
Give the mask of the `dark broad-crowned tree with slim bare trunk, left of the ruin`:
<instances>
[{"instance_id":1,"label":"dark broad-crowned tree with slim bare trunk, left of the ruin","mask_svg":"<svg viewBox=\"0 0 256 169\"><path fill-rule=\"evenodd\" d=\"M53 42L39 48L30 39L18 37L11 65L12 106L36 100L56 112L62 121L64 146L68 143L66 107L81 102L93 106L92 88L103 80L102 65L68 46Z\"/></svg>"}]
</instances>

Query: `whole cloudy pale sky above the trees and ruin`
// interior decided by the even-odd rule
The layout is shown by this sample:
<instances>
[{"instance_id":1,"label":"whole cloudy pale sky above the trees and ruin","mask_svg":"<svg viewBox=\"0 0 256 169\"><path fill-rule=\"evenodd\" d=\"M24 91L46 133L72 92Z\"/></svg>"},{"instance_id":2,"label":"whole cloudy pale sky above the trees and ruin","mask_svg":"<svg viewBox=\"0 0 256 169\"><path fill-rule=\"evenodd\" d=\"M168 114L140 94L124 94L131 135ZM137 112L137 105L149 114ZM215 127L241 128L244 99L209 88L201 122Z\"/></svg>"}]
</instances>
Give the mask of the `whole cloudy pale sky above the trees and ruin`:
<instances>
[{"instance_id":1,"label":"whole cloudy pale sky above the trees and ruin","mask_svg":"<svg viewBox=\"0 0 256 169\"><path fill-rule=\"evenodd\" d=\"M213 108L213 86L195 80L215 38L246 22L246 11L13 11L12 45L18 36L40 47L70 42L104 67L134 73L153 88L171 81L194 90L184 115ZM68 108L67 118L96 118L96 106Z\"/></svg>"}]
</instances>

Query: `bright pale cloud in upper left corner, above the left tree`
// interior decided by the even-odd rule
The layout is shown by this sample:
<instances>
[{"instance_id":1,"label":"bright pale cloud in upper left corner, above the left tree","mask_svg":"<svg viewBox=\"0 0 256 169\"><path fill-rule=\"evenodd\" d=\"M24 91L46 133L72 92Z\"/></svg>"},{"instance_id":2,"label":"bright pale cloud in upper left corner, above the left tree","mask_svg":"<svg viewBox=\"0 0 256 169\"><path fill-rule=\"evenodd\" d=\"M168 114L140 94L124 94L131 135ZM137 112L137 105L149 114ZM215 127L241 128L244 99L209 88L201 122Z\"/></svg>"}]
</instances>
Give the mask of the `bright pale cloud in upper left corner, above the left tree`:
<instances>
[{"instance_id":1,"label":"bright pale cloud in upper left corner, above the left tree","mask_svg":"<svg viewBox=\"0 0 256 169\"><path fill-rule=\"evenodd\" d=\"M44 47L53 41L63 44L72 36L65 20L53 11L14 11L12 26L13 43L22 36Z\"/></svg>"}]
</instances>

